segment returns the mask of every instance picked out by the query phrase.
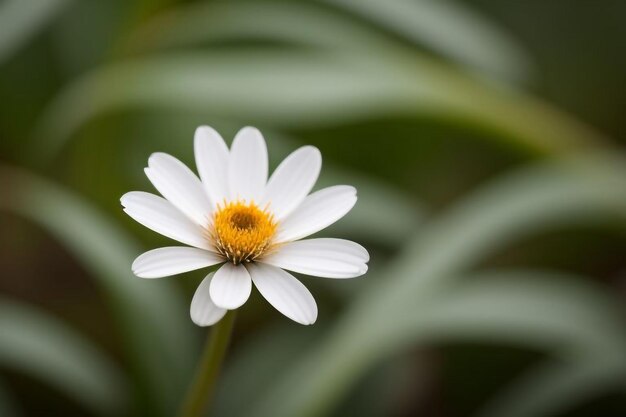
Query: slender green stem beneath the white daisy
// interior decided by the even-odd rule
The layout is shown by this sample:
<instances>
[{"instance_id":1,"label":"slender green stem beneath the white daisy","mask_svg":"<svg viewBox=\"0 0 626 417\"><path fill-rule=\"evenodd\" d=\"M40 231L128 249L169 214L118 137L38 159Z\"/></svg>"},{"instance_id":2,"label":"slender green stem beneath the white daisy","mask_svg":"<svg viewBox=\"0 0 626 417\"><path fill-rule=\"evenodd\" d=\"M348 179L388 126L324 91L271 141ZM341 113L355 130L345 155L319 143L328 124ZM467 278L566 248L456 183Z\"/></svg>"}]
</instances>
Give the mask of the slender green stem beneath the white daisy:
<instances>
[{"instance_id":1,"label":"slender green stem beneath the white daisy","mask_svg":"<svg viewBox=\"0 0 626 417\"><path fill-rule=\"evenodd\" d=\"M234 323L235 310L232 310L227 312L222 320L213 326L194 381L189 387L185 402L178 413L179 417L200 417L203 415L213 394L222 362L226 357Z\"/></svg>"}]
</instances>

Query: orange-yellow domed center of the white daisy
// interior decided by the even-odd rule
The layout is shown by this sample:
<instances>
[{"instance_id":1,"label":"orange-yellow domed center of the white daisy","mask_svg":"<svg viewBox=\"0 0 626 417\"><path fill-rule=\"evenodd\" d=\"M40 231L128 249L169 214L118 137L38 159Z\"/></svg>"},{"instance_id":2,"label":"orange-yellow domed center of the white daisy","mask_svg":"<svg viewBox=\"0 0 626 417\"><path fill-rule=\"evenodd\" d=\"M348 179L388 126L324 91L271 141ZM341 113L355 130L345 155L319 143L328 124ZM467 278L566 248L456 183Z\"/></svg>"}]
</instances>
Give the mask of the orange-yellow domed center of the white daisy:
<instances>
[{"instance_id":1,"label":"orange-yellow domed center of the white daisy","mask_svg":"<svg viewBox=\"0 0 626 417\"><path fill-rule=\"evenodd\" d=\"M270 249L276 226L274 216L254 202L234 201L218 206L210 237L217 251L238 265Z\"/></svg>"}]
</instances>

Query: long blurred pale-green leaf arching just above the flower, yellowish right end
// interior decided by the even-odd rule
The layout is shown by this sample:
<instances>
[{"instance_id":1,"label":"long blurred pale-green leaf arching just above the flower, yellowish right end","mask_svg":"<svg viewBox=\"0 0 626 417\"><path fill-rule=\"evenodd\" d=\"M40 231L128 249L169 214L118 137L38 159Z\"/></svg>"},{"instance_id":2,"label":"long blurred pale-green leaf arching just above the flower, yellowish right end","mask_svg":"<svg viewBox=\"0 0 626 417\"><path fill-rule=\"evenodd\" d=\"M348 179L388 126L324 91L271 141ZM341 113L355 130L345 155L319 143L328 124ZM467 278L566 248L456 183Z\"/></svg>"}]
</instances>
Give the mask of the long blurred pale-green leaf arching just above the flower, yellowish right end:
<instances>
[{"instance_id":1,"label":"long blurred pale-green leaf arching just above the flower, yellowish right end","mask_svg":"<svg viewBox=\"0 0 626 417\"><path fill-rule=\"evenodd\" d=\"M70 84L44 112L34 153L49 160L88 120L137 108L202 111L211 119L276 128L392 114L443 118L537 153L602 142L541 102L426 59L239 51L139 58L96 70Z\"/></svg>"}]
</instances>

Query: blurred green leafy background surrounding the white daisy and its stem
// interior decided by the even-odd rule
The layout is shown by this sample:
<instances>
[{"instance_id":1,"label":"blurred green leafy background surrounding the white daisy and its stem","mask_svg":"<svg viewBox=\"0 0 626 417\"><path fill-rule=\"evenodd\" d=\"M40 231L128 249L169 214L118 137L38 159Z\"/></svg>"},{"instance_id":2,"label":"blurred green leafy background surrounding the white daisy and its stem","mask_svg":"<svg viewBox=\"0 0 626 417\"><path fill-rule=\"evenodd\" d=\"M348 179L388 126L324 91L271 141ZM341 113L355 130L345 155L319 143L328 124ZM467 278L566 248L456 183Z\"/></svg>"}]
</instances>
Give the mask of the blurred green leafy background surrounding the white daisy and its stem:
<instances>
[{"instance_id":1,"label":"blurred green leafy background surrounding the white daisy and its stem","mask_svg":"<svg viewBox=\"0 0 626 417\"><path fill-rule=\"evenodd\" d=\"M172 416L206 271L119 197L200 124L319 147L372 255L253 292L207 416L626 415L626 3L0 2L0 416Z\"/></svg>"}]
</instances>

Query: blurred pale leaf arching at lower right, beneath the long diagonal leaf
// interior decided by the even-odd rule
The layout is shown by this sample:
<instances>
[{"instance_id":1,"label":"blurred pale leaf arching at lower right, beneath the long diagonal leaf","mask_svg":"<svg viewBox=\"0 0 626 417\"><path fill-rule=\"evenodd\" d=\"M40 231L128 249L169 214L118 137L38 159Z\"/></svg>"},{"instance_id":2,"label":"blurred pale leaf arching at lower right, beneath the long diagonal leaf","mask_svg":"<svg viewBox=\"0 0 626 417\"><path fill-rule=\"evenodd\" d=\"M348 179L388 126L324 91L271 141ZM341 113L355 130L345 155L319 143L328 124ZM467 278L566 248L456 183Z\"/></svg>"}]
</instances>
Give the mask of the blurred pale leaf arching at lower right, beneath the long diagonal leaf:
<instances>
[{"instance_id":1,"label":"blurred pale leaf arching at lower right, beneath the long diagonal leaf","mask_svg":"<svg viewBox=\"0 0 626 417\"><path fill-rule=\"evenodd\" d=\"M617 303L595 285L541 271L494 271L441 288L419 303L398 301L385 343L464 338L539 348L566 360L618 357L626 332ZM411 311L409 313L409 311ZM394 336L395 335L395 336ZM394 341L395 338L398 341ZM385 338L382 338L385 339Z\"/></svg>"}]
</instances>

